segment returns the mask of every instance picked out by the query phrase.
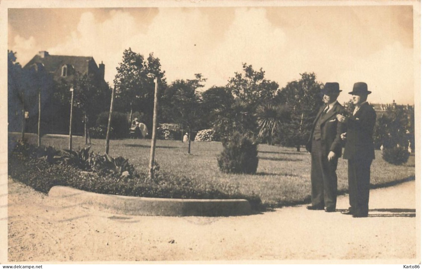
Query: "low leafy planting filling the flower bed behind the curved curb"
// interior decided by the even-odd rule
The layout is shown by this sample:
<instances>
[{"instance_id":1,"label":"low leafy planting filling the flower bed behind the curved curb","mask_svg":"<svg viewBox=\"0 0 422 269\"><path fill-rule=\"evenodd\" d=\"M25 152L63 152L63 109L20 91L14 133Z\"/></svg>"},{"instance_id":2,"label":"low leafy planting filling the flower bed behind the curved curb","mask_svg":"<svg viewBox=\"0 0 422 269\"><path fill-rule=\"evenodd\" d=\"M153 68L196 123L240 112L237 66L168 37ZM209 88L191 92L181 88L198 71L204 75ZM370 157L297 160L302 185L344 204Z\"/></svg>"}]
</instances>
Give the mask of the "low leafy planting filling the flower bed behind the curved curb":
<instances>
[{"instance_id":1,"label":"low leafy planting filling the flower bed behind the curved curb","mask_svg":"<svg viewBox=\"0 0 422 269\"><path fill-rule=\"evenodd\" d=\"M121 167L126 159L119 158L114 159L114 162L119 164L120 171L123 170ZM156 174L152 180L146 172L138 173L135 177L125 176L124 172L122 175L83 172L67 164L50 164L45 159L31 159L15 153L9 158L8 173L12 178L44 193L48 193L51 187L60 185L100 194L181 199L249 199L255 208L260 204L256 195L242 195L227 184L213 186L162 172Z\"/></svg>"}]
</instances>

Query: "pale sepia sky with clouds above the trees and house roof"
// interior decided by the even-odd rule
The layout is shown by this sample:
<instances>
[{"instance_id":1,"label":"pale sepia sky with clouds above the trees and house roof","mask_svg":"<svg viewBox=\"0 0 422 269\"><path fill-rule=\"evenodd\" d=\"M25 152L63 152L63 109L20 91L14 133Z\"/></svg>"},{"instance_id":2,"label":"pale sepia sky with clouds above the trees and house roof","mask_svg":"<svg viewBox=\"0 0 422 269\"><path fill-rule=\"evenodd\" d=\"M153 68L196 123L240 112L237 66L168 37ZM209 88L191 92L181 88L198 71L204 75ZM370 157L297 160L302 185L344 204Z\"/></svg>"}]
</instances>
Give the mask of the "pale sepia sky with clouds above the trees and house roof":
<instances>
[{"instance_id":1,"label":"pale sepia sky with clouds above the trees and house roof","mask_svg":"<svg viewBox=\"0 0 422 269\"><path fill-rule=\"evenodd\" d=\"M364 81L372 103L414 104L410 5L11 8L8 49L25 65L38 51L93 56L113 83L123 51L154 53L167 82L207 78L225 86L242 63L279 83L314 72L338 82L345 102Z\"/></svg>"}]
</instances>

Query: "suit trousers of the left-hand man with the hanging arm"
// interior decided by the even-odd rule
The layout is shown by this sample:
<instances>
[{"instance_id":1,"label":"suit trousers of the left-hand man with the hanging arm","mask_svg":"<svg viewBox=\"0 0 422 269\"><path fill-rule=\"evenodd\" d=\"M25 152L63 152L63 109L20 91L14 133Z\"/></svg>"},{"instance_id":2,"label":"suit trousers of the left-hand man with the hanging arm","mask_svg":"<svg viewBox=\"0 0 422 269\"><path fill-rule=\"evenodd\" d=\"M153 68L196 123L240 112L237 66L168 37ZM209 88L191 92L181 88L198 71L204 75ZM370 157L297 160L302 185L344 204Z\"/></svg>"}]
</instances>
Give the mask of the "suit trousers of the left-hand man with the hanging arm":
<instances>
[{"instance_id":1,"label":"suit trousers of the left-hand man with the hanging arm","mask_svg":"<svg viewBox=\"0 0 422 269\"><path fill-rule=\"evenodd\" d=\"M313 206L335 209L337 203L338 157L328 161L322 152L321 140L312 141L311 151L311 202Z\"/></svg>"}]
</instances>

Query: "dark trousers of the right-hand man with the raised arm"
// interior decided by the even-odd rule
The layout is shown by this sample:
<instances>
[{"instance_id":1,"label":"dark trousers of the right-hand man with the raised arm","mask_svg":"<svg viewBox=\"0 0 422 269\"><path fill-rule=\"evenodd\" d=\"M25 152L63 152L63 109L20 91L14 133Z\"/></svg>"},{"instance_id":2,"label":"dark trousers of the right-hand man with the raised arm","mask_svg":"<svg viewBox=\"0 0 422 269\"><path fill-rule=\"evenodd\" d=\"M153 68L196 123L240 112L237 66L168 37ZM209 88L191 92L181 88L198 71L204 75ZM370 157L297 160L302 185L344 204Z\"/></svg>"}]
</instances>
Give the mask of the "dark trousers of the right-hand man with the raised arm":
<instances>
[{"instance_id":1,"label":"dark trousers of the right-hand man with the raised arm","mask_svg":"<svg viewBox=\"0 0 422 269\"><path fill-rule=\"evenodd\" d=\"M372 159L348 160L349 203L353 215L368 215Z\"/></svg>"}]
</instances>

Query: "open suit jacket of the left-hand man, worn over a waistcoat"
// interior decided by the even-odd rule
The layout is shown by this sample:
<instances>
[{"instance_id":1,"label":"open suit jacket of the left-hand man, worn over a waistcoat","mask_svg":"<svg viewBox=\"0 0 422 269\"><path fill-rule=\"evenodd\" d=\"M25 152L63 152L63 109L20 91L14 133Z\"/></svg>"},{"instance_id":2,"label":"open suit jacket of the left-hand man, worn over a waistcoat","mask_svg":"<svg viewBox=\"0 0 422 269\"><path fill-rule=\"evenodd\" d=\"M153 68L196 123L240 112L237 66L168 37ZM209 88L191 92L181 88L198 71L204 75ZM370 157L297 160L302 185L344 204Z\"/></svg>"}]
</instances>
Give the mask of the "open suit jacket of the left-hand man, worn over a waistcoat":
<instances>
[{"instance_id":1,"label":"open suit jacket of the left-hand man, worn over a waistcoat","mask_svg":"<svg viewBox=\"0 0 422 269\"><path fill-rule=\"evenodd\" d=\"M306 143L306 150L311 152L312 142L314 137L314 130L317 126L317 121L324 111L326 105L323 105L317 114L317 118L312 124L311 135L309 136L308 143ZM346 110L340 105L339 102L335 102L333 108L330 109L324 116L322 116L322 121L320 124L321 128L321 150L322 153L327 156L330 151L333 151L336 157L341 156L342 141L340 134L346 132L346 124L341 123L337 120L335 115L344 114Z\"/></svg>"}]
</instances>

